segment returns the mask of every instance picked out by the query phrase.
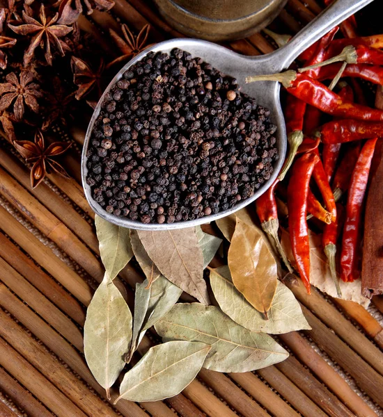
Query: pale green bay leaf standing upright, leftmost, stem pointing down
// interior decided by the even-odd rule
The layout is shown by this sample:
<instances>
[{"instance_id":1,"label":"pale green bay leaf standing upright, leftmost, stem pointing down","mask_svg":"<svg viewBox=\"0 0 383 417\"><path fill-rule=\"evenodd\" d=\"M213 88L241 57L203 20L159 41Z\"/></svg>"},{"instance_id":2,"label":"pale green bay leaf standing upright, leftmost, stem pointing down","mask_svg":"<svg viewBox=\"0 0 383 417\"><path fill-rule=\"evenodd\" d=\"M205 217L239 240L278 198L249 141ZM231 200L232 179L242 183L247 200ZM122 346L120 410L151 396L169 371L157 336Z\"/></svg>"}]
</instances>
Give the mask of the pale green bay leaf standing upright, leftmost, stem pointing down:
<instances>
[{"instance_id":1,"label":"pale green bay leaf standing upright, leftmost, stem pointing down","mask_svg":"<svg viewBox=\"0 0 383 417\"><path fill-rule=\"evenodd\" d=\"M84 354L97 382L107 391L125 366L132 338L132 314L109 275L95 291L86 311Z\"/></svg>"}]
</instances>

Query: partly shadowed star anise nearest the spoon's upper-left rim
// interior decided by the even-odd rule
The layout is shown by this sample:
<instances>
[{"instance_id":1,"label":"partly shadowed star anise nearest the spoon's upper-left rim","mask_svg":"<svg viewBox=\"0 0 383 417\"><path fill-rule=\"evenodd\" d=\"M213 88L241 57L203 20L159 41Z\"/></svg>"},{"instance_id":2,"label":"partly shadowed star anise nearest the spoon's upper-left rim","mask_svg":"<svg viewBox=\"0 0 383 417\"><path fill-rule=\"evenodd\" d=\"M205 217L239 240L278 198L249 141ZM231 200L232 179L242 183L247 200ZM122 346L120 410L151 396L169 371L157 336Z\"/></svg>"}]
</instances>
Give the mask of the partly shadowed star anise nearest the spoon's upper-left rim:
<instances>
[{"instance_id":1,"label":"partly shadowed star anise nearest the spoon's upper-left rim","mask_svg":"<svg viewBox=\"0 0 383 417\"><path fill-rule=\"evenodd\" d=\"M93 72L91 67L80 58L72 56L70 60L73 72L73 82L79 87L76 92L76 99L79 100L88 94L97 85L98 95L101 96L101 75L104 71L104 61L101 60L97 71Z\"/></svg>"}]
</instances>

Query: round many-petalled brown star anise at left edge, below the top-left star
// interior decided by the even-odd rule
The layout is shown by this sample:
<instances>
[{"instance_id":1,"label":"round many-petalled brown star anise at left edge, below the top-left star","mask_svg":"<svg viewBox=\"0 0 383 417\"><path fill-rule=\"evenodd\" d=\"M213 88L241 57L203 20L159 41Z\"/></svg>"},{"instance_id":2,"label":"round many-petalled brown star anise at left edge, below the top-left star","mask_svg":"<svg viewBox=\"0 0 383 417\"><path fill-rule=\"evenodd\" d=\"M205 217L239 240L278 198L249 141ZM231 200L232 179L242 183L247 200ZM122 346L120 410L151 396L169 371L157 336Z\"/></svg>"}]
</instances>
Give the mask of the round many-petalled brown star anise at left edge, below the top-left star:
<instances>
[{"instance_id":1,"label":"round many-petalled brown star anise at left edge, below the top-left star","mask_svg":"<svg viewBox=\"0 0 383 417\"><path fill-rule=\"evenodd\" d=\"M42 97L40 85L33 83L33 74L30 71L22 71L17 79L17 75L11 72L6 76L6 83L0 84L0 111L6 110L13 104L13 114L15 120L22 120L24 110L28 106L31 111L38 113L37 99Z\"/></svg>"}]
</instances>

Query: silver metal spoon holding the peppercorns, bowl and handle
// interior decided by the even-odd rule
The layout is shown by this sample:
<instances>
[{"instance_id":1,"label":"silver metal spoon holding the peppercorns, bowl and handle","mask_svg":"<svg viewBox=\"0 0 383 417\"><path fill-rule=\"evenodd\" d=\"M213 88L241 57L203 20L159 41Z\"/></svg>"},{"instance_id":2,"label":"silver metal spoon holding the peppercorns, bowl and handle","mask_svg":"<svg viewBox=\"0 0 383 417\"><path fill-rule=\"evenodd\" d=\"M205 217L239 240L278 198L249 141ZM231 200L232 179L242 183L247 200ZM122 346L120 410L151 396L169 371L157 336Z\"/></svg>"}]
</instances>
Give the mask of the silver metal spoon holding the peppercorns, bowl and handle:
<instances>
[{"instance_id":1,"label":"silver metal spoon holding the peppercorns, bowl and handle","mask_svg":"<svg viewBox=\"0 0 383 417\"><path fill-rule=\"evenodd\" d=\"M235 213L235 211L244 208L248 204L254 202L260 195L265 193L267 188L272 185L283 164L286 154L286 126L283 119L283 113L281 108L281 101L279 98L280 85L275 81L259 81L256 83L246 84L245 78L249 75L261 75L272 74L286 70L299 54L311 46L314 42L325 35L331 28L334 28L337 24L343 22L358 10L371 3L373 0L336 0L325 11L323 11L318 17L313 19L305 28L302 29L288 44L281 49L278 49L272 54L266 54L263 56L243 56L236 54L229 49L221 47L211 42L197 39L172 39L166 40L159 44L155 44L153 47L145 49L141 54L137 55L134 59L130 60L111 81L107 89L104 91L104 95L111 90L112 86L122 78L125 71L134 65L137 61L141 60L149 52L170 52L173 48L180 48L188 51L192 56L200 57L205 62L212 64L218 70L224 74L235 77L238 80L239 85L242 87L242 92L246 92L251 97L255 97L258 104L269 108L271 111L271 120L278 129L276 131L277 147L279 151L279 161L274 165L274 172L271 177L260 186L252 197L244 199L228 210L221 211L220 213L204 216L196 220L187 220L181 222L175 222L172 224L143 224L136 220L130 220L127 218L120 218L116 215L112 215L104 211L104 209L97 204L91 195L91 187L86 183L87 167L86 167L86 153L91 138L91 132L93 130L93 124L100 113L101 103L104 99L102 95L98 102L91 122L86 132L84 149L81 158L81 175L82 182L85 190L86 199L91 208L97 215L108 220L111 223L117 224L121 227L128 227L130 229L146 229L146 230L169 230L169 229L181 229L183 227L194 227L198 224L206 222L212 222L219 218L223 218L226 215Z\"/></svg>"}]
</instances>

